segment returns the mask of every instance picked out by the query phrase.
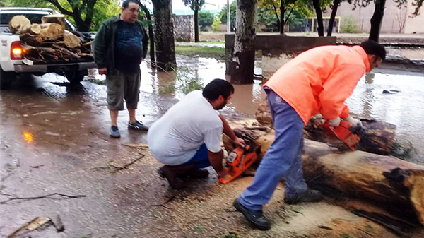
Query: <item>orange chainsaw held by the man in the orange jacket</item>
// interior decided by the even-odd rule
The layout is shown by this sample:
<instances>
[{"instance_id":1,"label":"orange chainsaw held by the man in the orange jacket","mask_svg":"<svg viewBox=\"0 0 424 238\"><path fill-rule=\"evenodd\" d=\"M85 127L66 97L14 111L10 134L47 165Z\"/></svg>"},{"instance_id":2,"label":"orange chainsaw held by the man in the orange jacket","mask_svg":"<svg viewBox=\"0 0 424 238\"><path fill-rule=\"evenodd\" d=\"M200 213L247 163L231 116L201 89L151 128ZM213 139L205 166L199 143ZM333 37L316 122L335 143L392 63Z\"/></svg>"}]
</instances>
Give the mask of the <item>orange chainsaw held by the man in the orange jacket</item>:
<instances>
[{"instance_id":1,"label":"orange chainsaw held by the man in the orange jacket","mask_svg":"<svg viewBox=\"0 0 424 238\"><path fill-rule=\"evenodd\" d=\"M326 120L322 125L326 134L329 137L336 137L350 150L356 150L356 145L360 141L361 126L353 126L348 121L340 121L339 126L330 126L329 123L330 121Z\"/></svg>"}]
</instances>

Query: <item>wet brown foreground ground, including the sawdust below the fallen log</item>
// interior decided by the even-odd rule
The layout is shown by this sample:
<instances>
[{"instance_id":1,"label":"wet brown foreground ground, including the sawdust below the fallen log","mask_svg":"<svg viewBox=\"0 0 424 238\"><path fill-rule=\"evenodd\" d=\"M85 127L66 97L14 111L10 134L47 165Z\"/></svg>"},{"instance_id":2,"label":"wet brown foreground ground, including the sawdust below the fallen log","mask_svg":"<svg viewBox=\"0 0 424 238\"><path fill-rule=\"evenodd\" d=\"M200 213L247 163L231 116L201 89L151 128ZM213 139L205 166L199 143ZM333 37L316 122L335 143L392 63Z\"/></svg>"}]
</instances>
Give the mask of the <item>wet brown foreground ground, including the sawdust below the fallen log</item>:
<instances>
[{"instance_id":1,"label":"wet brown foreground ground, including the sawdust below the fallen log","mask_svg":"<svg viewBox=\"0 0 424 238\"><path fill-rule=\"evenodd\" d=\"M51 81L64 78L22 79L12 90L1 91L0 202L11 198L4 194L85 197L0 204L0 237L35 217L57 215L64 232L50 225L22 237L398 237L351 213L351 208L363 206L355 201L327 197L322 203L289 206L283 203L282 185L264 208L272 229L256 230L232 207L252 177L222 185L210 169L208 179L172 190L156 173L160 164L145 146L127 146L146 143L146 133L126 130L126 112L119 115L122 138L109 138L105 86L83 82L71 89ZM175 102L142 93L137 117L151 125ZM231 110L223 114L246 117ZM134 160L127 169L117 169ZM411 232L411 237L424 234L420 229Z\"/></svg>"}]
</instances>

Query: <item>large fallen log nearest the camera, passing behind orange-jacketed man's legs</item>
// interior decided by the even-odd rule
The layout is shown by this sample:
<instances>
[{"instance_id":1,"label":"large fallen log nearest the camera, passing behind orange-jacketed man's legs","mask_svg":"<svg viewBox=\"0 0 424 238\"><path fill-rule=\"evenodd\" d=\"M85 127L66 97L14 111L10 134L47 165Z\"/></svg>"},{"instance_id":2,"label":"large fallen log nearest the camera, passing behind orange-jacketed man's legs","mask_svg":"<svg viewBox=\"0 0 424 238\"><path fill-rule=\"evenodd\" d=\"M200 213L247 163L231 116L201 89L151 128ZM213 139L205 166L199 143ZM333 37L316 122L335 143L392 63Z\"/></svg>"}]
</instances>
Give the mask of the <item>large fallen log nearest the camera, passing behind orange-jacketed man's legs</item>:
<instances>
[{"instance_id":1,"label":"large fallen log nearest the camera, passing behind orange-jacketed man's legs","mask_svg":"<svg viewBox=\"0 0 424 238\"><path fill-rule=\"evenodd\" d=\"M273 129L258 126L254 120L230 125L237 136L248 136L261 145L261 156L273 143ZM223 142L226 149L232 149L229 138L224 136ZM413 214L424 225L424 166L358 150L341 153L307 139L302 159L308 184L336 189L391 210L402 210L404 215Z\"/></svg>"}]
</instances>

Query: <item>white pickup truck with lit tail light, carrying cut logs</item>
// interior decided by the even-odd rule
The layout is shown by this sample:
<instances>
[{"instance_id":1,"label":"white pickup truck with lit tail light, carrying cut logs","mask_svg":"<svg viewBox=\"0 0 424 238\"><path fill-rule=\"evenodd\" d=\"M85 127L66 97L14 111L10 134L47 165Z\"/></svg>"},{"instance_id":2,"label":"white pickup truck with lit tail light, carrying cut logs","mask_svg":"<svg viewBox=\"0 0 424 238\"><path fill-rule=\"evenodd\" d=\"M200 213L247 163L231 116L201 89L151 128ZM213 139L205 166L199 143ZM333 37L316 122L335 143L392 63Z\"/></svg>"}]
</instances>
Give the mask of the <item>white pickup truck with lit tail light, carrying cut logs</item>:
<instances>
[{"instance_id":1,"label":"white pickup truck with lit tail light, carrying cut logs","mask_svg":"<svg viewBox=\"0 0 424 238\"><path fill-rule=\"evenodd\" d=\"M0 8L0 89L8 89L17 75L30 73L40 76L44 73L58 73L66 76L71 83L79 83L87 74L87 69L96 68L93 60L57 61L54 64L40 64L23 60L19 35L8 30L8 22L16 15L23 15L31 23L41 23L42 16L56 14L49 8ZM66 30L75 27L66 20ZM87 35L90 37L90 35Z\"/></svg>"}]
</instances>

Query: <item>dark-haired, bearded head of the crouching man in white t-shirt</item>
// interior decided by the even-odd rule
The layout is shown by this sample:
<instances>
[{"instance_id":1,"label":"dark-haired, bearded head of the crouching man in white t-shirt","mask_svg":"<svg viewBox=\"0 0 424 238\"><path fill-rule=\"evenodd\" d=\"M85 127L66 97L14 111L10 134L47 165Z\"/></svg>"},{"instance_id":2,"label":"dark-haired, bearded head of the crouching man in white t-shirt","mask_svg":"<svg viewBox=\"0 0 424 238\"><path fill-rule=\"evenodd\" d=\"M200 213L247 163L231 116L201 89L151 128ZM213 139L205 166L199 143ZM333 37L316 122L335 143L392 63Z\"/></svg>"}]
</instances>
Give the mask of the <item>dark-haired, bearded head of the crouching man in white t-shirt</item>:
<instances>
[{"instance_id":1,"label":"dark-haired, bearded head of the crouching man in white t-shirt","mask_svg":"<svg viewBox=\"0 0 424 238\"><path fill-rule=\"evenodd\" d=\"M227 105L234 93L234 87L228 81L216 78L208 83L203 90L203 96L211 102L213 109L219 110Z\"/></svg>"}]
</instances>

